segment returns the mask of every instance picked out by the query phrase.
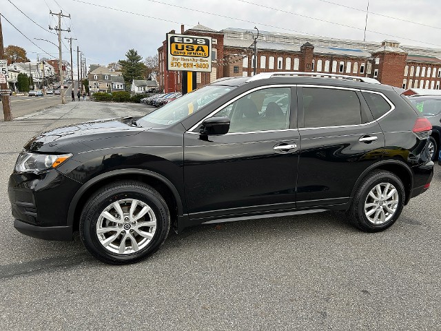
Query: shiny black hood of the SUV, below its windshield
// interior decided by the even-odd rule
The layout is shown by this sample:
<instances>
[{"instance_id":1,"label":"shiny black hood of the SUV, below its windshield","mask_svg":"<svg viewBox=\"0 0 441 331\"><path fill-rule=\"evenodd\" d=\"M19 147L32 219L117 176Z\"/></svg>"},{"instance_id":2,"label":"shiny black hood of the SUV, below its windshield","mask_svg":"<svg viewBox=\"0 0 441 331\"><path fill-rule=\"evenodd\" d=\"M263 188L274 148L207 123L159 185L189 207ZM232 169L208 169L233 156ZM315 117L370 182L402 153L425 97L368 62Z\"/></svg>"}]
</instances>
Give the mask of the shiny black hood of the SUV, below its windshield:
<instances>
[{"instance_id":1,"label":"shiny black hood of the SUV, below its windshield","mask_svg":"<svg viewBox=\"0 0 441 331\"><path fill-rule=\"evenodd\" d=\"M81 145L80 150L87 147L88 141L130 136L148 128L139 128L132 125L134 118L101 119L78 123L74 126L64 126L33 137L25 144L24 149L29 152L75 152L75 146Z\"/></svg>"}]
</instances>

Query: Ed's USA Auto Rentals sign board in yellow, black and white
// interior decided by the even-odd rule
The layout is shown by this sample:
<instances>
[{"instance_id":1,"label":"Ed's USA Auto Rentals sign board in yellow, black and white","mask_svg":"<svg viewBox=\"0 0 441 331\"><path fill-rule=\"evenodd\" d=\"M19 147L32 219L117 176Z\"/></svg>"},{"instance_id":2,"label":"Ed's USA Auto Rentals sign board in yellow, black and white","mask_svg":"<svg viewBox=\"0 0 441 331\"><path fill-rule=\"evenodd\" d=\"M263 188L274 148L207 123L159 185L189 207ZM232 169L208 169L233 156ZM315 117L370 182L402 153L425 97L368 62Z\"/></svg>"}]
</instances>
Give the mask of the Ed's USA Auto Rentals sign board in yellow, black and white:
<instances>
[{"instance_id":1,"label":"Ed's USA Auto Rentals sign board in yellow, black and white","mask_svg":"<svg viewBox=\"0 0 441 331\"><path fill-rule=\"evenodd\" d=\"M167 69L212 72L212 37L167 33Z\"/></svg>"}]
</instances>

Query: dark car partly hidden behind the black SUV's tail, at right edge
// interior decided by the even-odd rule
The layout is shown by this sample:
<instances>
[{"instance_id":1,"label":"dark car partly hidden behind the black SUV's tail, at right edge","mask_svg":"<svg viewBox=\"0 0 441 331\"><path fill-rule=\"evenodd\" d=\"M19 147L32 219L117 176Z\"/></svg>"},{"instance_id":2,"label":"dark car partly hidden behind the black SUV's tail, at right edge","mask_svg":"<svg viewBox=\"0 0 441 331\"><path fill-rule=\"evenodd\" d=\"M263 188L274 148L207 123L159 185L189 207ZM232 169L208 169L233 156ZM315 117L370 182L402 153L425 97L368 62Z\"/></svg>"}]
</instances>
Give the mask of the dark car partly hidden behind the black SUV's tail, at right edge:
<instances>
[{"instance_id":1,"label":"dark car partly hidden behind the black SUV's tail, at right edge","mask_svg":"<svg viewBox=\"0 0 441 331\"><path fill-rule=\"evenodd\" d=\"M430 92L427 90L427 95L416 94L408 98L432 125L428 152L435 161L441 152L441 95L430 95Z\"/></svg>"}]
</instances>

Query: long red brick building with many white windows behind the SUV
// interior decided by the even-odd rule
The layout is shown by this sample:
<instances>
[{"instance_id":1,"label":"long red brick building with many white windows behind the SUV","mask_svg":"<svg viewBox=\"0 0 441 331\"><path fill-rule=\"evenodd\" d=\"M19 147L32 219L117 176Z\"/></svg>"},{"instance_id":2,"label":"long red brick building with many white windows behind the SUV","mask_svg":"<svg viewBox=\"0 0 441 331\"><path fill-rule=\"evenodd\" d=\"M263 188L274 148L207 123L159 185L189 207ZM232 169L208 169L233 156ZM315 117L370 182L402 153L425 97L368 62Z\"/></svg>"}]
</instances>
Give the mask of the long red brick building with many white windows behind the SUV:
<instances>
[{"instance_id":1,"label":"long red brick building with many white windows behind the SUV","mask_svg":"<svg viewBox=\"0 0 441 331\"><path fill-rule=\"evenodd\" d=\"M252 76L256 66L257 73L336 73L376 78L399 88L440 89L441 50L400 46L393 40L378 43L261 31L254 59L254 36L245 29L215 31L198 24L188 30L181 26L181 34L213 38L212 72L196 74L198 87L222 77ZM164 92L181 91L181 72L167 70L166 54L163 41L158 48L159 86Z\"/></svg>"}]
</instances>

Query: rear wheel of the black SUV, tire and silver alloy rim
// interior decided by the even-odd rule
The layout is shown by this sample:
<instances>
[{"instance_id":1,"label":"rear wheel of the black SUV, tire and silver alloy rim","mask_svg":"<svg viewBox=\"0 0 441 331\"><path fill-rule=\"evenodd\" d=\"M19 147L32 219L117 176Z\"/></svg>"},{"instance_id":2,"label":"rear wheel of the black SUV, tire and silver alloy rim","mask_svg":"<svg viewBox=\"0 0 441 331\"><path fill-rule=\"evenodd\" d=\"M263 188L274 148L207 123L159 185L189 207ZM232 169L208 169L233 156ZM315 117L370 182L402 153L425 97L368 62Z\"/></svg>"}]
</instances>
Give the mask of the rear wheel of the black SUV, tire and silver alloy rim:
<instances>
[{"instance_id":1,"label":"rear wheel of the black SUV, tire and silver alloy rim","mask_svg":"<svg viewBox=\"0 0 441 331\"><path fill-rule=\"evenodd\" d=\"M347 216L353 225L367 232L389 228L404 207L404 186L392 172L377 170L362 181Z\"/></svg>"}]
</instances>

